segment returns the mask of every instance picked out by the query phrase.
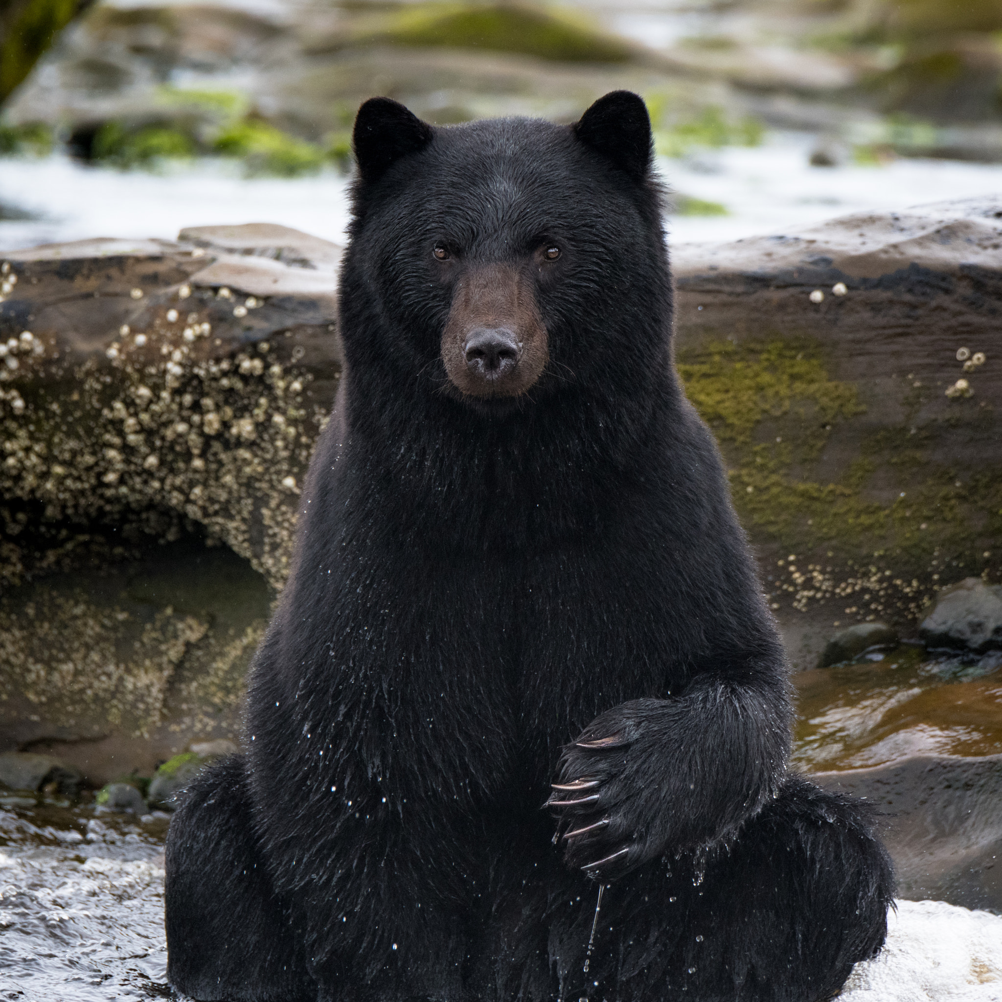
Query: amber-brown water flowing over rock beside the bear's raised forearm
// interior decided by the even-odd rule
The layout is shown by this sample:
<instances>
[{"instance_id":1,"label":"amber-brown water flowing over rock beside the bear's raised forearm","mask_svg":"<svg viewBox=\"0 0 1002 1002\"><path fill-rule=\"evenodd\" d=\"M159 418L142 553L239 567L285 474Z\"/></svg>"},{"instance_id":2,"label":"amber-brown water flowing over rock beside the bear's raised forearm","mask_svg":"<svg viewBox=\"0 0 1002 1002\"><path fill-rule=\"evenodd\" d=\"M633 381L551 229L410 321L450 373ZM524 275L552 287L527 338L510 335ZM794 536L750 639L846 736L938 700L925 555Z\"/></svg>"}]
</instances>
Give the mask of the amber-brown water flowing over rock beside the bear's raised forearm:
<instances>
[{"instance_id":1,"label":"amber-brown water flowing over rock beside the bear's raised forearm","mask_svg":"<svg viewBox=\"0 0 1002 1002\"><path fill-rule=\"evenodd\" d=\"M1002 753L1002 652L929 657L905 645L795 675L794 762L823 771Z\"/></svg>"}]
</instances>

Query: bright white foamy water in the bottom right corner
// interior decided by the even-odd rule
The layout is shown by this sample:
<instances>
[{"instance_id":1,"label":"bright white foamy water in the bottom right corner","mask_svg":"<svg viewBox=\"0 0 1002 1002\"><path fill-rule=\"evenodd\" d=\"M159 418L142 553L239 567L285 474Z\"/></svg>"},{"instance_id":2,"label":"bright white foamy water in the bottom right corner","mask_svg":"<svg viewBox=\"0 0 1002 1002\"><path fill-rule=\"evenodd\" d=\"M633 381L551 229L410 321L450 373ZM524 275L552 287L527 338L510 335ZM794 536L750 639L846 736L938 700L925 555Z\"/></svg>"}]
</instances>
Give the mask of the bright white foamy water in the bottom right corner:
<instances>
[{"instance_id":1,"label":"bright white foamy water in the bottom right corner","mask_svg":"<svg viewBox=\"0 0 1002 1002\"><path fill-rule=\"evenodd\" d=\"M1000 1002L1002 918L943 901L899 901L880 956L839 1002Z\"/></svg>"}]
</instances>

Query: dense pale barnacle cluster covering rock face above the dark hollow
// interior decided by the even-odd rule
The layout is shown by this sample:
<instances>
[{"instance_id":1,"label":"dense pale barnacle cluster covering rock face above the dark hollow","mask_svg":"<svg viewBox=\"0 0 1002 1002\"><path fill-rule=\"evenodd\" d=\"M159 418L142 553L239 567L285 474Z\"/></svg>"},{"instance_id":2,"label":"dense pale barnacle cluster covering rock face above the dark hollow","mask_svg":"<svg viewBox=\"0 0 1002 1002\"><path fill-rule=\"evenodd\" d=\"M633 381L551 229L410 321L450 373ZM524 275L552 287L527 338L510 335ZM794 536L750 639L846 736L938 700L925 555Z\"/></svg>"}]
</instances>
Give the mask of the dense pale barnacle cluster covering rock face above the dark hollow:
<instances>
[{"instance_id":1,"label":"dense pale barnacle cluster covering rock face above the dark hollow","mask_svg":"<svg viewBox=\"0 0 1002 1002\"><path fill-rule=\"evenodd\" d=\"M272 341L227 353L198 309L215 294L175 295L183 316L171 306L146 330L118 328L104 362L60 364L55 339L27 331L0 346L0 496L40 503L50 522L196 529L281 587L325 420L304 401L312 377Z\"/></svg>"}]
</instances>

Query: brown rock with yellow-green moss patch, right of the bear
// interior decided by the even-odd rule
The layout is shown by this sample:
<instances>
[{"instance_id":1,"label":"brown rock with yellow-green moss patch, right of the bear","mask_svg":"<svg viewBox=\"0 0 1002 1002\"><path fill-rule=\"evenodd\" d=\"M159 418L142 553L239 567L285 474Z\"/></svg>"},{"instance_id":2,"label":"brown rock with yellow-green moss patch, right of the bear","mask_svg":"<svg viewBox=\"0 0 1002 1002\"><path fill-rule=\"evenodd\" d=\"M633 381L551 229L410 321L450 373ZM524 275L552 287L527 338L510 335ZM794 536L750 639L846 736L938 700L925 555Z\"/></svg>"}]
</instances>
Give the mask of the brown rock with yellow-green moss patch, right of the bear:
<instances>
[{"instance_id":1,"label":"brown rock with yellow-green moss patch, right of the bear","mask_svg":"<svg viewBox=\"0 0 1002 1002\"><path fill-rule=\"evenodd\" d=\"M802 666L834 626L915 635L941 585L1000 576L1000 220L971 200L675 249L679 373L774 608L816 614Z\"/></svg>"}]
</instances>

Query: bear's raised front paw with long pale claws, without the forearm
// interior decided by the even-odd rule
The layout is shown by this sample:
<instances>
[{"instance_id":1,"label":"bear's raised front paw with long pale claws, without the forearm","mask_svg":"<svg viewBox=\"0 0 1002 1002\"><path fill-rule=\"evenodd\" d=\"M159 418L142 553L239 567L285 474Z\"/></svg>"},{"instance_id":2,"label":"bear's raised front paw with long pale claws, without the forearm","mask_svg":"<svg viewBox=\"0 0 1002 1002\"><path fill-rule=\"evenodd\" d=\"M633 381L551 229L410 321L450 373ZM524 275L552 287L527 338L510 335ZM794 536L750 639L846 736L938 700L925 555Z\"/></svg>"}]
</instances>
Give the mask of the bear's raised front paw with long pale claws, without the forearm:
<instances>
[{"instance_id":1,"label":"bear's raised front paw with long pale claws, without the forearm","mask_svg":"<svg viewBox=\"0 0 1002 1002\"><path fill-rule=\"evenodd\" d=\"M660 856L667 832L656 752L665 703L634 699L602 713L566 745L546 807L568 866L609 880Z\"/></svg>"}]
</instances>

